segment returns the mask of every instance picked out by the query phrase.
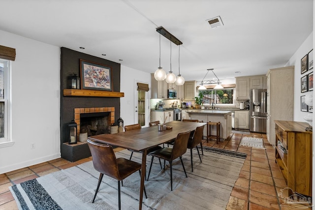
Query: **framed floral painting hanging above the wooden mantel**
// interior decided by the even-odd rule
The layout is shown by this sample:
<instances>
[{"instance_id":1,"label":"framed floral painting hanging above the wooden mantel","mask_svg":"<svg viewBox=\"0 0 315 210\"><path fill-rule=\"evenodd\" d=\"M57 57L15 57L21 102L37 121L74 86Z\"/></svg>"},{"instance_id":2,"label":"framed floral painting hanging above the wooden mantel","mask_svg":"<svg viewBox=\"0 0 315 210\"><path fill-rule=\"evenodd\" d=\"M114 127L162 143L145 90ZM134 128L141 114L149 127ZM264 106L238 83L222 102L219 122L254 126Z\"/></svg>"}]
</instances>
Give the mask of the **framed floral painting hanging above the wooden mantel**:
<instances>
[{"instance_id":1,"label":"framed floral painting hanging above the wooden mantel","mask_svg":"<svg viewBox=\"0 0 315 210\"><path fill-rule=\"evenodd\" d=\"M112 68L80 59L81 89L113 91Z\"/></svg>"}]
</instances>

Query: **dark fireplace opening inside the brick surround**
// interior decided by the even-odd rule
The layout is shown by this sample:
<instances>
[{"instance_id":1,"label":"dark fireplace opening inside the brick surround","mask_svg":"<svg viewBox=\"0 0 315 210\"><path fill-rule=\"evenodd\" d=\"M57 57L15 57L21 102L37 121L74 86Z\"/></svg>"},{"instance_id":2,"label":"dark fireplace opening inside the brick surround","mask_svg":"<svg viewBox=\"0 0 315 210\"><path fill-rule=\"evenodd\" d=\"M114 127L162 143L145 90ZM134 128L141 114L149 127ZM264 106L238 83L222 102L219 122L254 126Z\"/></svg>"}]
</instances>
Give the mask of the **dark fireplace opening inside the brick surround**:
<instances>
[{"instance_id":1,"label":"dark fireplace opening inside the brick surround","mask_svg":"<svg viewBox=\"0 0 315 210\"><path fill-rule=\"evenodd\" d=\"M80 133L94 136L110 133L110 112L94 112L80 114Z\"/></svg>"}]
</instances>

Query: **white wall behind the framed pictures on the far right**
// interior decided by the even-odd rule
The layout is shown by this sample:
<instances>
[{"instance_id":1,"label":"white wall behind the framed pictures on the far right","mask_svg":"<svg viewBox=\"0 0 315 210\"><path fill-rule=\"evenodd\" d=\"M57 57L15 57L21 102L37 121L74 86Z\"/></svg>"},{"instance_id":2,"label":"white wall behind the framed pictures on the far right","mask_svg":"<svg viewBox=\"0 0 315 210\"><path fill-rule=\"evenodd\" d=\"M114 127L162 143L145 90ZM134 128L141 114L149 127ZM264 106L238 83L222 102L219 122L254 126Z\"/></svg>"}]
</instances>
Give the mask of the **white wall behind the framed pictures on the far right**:
<instances>
[{"instance_id":1,"label":"white wall behind the framed pictures on the far right","mask_svg":"<svg viewBox=\"0 0 315 210\"><path fill-rule=\"evenodd\" d=\"M305 95L305 92L301 93L301 77L305 76L313 71L307 71L301 74L301 59L313 49L313 32L307 37L303 44L297 49L294 55L287 62L286 66L294 65L294 121L306 122L303 119L308 112L301 111L301 95ZM289 94L289 93L288 93ZM281 106L281 104L280 104Z\"/></svg>"}]
</instances>

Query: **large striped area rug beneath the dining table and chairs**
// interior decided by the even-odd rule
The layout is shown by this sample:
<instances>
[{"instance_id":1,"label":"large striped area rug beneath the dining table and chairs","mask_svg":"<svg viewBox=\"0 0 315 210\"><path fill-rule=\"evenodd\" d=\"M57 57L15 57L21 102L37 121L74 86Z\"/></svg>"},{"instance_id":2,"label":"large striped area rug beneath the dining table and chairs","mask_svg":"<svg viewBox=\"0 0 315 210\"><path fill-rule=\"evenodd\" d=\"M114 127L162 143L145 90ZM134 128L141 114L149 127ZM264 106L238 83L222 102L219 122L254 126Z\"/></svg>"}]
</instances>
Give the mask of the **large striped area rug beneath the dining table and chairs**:
<instances>
[{"instance_id":1,"label":"large striped area rug beneath the dining table and chairs","mask_svg":"<svg viewBox=\"0 0 315 210\"><path fill-rule=\"evenodd\" d=\"M130 151L115 153L129 158ZM235 181L239 177L246 154L204 147L202 163L193 150L193 172L190 151L183 155L188 178L181 161L173 162L173 191L170 189L170 169L161 170L155 158L150 179L145 181L148 198L143 198L144 210L224 210ZM150 166L147 161L147 171ZM141 154L135 152L132 160L141 162ZM167 162L166 162L167 163ZM44 177L25 181L10 187L19 209L40 210L114 210L118 209L117 180L104 176L92 203L99 173L92 161L61 170ZM139 173L124 180L121 187L123 210L139 208Z\"/></svg>"}]
</instances>

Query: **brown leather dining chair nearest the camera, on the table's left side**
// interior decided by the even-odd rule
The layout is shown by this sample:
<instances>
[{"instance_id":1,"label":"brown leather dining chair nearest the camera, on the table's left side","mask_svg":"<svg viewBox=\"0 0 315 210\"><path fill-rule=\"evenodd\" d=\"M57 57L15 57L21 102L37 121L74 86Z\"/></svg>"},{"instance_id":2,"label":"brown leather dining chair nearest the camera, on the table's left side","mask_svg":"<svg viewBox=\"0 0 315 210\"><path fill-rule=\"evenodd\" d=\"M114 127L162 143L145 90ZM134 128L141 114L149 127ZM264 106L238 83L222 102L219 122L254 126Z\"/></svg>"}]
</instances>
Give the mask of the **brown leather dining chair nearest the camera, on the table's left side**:
<instances>
[{"instance_id":1,"label":"brown leather dining chair nearest the camera, on the table's left side","mask_svg":"<svg viewBox=\"0 0 315 210\"><path fill-rule=\"evenodd\" d=\"M87 140L87 143L91 150L93 166L95 170L100 173L92 203L95 201L99 185L105 174L115 180L118 180L118 207L121 209L120 182L122 181L123 186L123 180L136 171L139 171L141 177L141 163L137 163L123 157L116 159L114 150L110 145L99 144L91 141L90 139ZM147 198L145 188L144 194Z\"/></svg>"}]
</instances>

